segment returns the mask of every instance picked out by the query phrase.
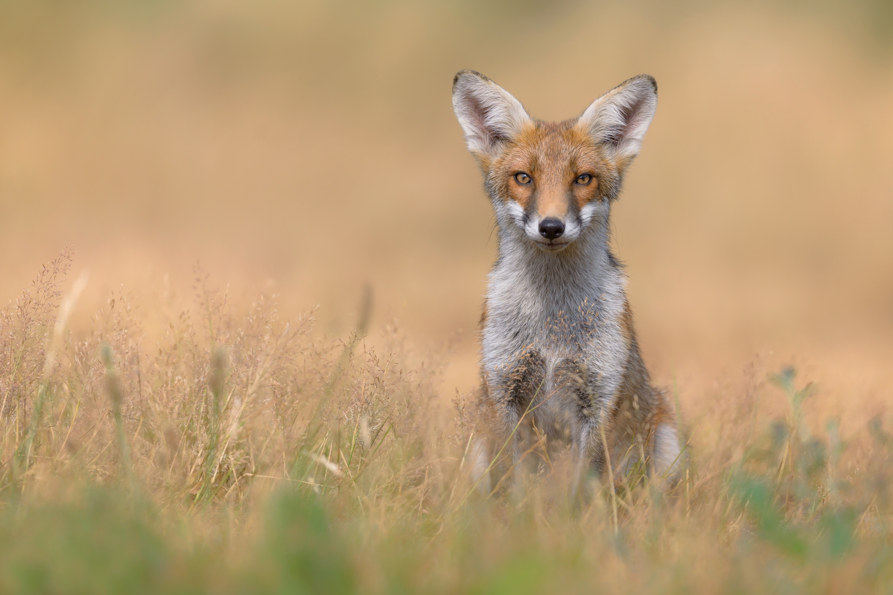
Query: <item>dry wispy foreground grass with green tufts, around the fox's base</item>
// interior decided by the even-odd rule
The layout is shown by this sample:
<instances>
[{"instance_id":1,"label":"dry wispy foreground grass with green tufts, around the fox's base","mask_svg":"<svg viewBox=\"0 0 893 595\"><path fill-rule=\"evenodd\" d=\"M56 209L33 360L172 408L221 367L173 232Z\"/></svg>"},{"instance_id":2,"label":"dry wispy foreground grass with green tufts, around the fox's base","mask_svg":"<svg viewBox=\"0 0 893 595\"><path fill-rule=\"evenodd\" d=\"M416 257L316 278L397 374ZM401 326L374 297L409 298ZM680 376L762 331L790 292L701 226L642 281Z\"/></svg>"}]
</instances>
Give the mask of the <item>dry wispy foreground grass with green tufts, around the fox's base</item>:
<instances>
[{"instance_id":1,"label":"dry wispy foreground grass with green tufts, around the fox's base","mask_svg":"<svg viewBox=\"0 0 893 595\"><path fill-rule=\"evenodd\" d=\"M0 591L893 585L893 434L881 416L810 427L815 387L793 368L751 368L684 424L669 491L630 475L572 504L565 461L534 450L523 495L484 497L465 465L470 402L440 398L437 355L421 361L396 331L366 348L368 300L326 340L312 311L234 304L197 273L195 303L148 348L120 295L73 337L70 268L63 252L0 318Z\"/></svg>"}]
</instances>

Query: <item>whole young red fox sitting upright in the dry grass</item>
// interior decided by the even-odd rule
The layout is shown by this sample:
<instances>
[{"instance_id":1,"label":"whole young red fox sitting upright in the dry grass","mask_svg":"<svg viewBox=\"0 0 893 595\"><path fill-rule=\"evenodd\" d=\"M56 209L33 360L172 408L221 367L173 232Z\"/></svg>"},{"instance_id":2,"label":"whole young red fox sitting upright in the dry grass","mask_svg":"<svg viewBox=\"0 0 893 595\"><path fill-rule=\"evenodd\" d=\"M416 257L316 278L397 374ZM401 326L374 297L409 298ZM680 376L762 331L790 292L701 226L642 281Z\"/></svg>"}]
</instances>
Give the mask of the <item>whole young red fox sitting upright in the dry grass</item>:
<instances>
[{"instance_id":1,"label":"whole young red fox sitting upright in the dry grass","mask_svg":"<svg viewBox=\"0 0 893 595\"><path fill-rule=\"evenodd\" d=\"M480 72L453 79L497 229L479 327L483 430L471 462L480 492L490 493L500 453L496 468L517 476L539 440L571 448L572 492L587 476L679 473L675 410L642 360L610 247L611 207L656 106L655 79L639 75L578 118L547 122Z\"/></svg>"}]
</instances>

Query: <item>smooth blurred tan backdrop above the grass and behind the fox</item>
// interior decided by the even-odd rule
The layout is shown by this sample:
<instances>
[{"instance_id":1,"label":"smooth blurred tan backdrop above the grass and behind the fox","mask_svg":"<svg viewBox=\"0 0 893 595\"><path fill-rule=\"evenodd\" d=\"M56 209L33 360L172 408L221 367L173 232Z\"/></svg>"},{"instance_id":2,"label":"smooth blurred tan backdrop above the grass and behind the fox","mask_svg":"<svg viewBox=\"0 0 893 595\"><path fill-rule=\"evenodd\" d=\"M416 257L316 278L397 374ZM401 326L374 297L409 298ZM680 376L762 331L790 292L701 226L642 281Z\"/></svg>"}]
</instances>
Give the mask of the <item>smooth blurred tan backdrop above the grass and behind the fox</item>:
<instances>
[{"instance_id":1,"label":"smooth blurred tan backdrop above the grass and behind the fox","mask_svg":"<svg viewBox=\"0 0 893 595\"><path fill-rule=\"evenodd\" d=\"M466 391L496 241L455 71L542 119L645 72L660 100L614 227L657 379L759 353L878 403L891 5L0 0L0 297L71 245L85 319L122 284L151 318L201 261L338 334L369 283L373 326L453 341L445 393Z\"/></svg>"}]
</instances>

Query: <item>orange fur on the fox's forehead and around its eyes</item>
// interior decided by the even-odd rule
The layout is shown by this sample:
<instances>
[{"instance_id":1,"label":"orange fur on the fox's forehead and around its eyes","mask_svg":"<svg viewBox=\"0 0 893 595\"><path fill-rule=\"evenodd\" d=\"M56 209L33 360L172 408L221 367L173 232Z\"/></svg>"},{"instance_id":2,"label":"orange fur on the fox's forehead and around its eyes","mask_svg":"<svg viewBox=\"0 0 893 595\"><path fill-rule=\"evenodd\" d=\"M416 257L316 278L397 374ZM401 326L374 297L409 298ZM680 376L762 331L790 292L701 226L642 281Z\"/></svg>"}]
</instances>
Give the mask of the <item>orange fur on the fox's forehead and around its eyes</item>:
<instances>
[{"instance_id":1,"label":"orange fur on the fox's forehead and around its eyes","mask_svg":"<svg viewBox=\"0 0 893 595\"><path fill-rule=\"evenodd\" d=\"M566 192L580 174L596 179L587 191L573 193L578 208L600 198L605 180L613 178L615 168L602 147L586 132L575 128L576 120L544 122L532 120L520 134L505 145L502 153L489 164L488 177L503 200L514 200L522 207L530 202L530 192L511 184L512 177L523 171L534 180L538 194ZM581 189L582 190L582 189ZM556 195L555 198L558 198Z\"/></svg>"}]
</instances>

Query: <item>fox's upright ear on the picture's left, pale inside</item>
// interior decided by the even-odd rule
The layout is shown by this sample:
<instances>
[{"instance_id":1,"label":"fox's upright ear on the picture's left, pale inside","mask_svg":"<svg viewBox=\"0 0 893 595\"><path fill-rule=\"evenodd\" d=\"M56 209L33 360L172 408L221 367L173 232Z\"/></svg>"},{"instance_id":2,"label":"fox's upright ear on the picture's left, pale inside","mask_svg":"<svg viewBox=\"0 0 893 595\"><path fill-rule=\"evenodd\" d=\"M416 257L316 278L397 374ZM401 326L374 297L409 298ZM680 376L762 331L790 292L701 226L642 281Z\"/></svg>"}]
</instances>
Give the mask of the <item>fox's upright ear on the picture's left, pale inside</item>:
<instances>
[{"instance_id":1,"label":"fox's upright ear on the picture's left, pale inside","mask_svg":"<svg viewBox=\"0 0 893 595\"><path fill-rule=\"evenodd\" d=\"M468 150L488 159L531 121L521 102L474 70L456 73L453 111L462 125Z\"/></svg>"}]
</instances>

